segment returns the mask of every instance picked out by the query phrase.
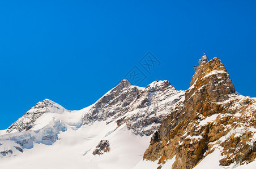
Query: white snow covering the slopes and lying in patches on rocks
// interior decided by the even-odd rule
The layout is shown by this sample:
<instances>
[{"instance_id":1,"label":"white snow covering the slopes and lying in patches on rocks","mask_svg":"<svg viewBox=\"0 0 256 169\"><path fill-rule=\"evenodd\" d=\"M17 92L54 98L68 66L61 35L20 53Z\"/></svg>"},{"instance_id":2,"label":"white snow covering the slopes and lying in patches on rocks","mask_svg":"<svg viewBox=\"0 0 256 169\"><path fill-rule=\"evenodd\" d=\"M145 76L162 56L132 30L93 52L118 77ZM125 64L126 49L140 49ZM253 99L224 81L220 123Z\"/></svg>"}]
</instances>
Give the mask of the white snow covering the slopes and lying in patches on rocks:
<instances>
[{"instance_id":1,"label":"white snow covering the slopes and lying in patches on rocks","mask_svg":"<svg viewBox=\"0 0 256 169\"><path fill-rule=\"evenodd\" d=\"M223 72L220 71L212 74L219 73ZM155 81L151 83L148 88L157 87L157 85L163 82L165 81ZM190 89L193 88L193 85ZM140 90L147 89L140 88ZM111 92L111 90L109 92ZM107 94L109 94L109 92ZM126 123L119 127L117 126L117 120L121 118L129 119L135 117L136 120L131 122L131 124L136 124L138 121L143 121L146 115L148 115L147 118L168 115L170 109L175 108L180 101L184 101L185 99L184 91L176 91L173 89L168 91L168 95L167 93L161 93L161 91L157 92L159 92L157 95L151 93L150 99L152 104L150 106L138 108L141 102L136 103L134 101L131 109L129 109L126 114L120 117L110 117L106 119L106 121L96 120L86 125L82 125L82 117L85 113L88 113L95 104L82 110L70 111L51 100L47 100L53 104L53 106L49 108L48 112L46 111L37 118L29 131L16 132L14 130L10 134L6 134L6 130L0 131L0 152L12 150L12 153L6 155L0 154L0 168L157 168L160 166L160 164L157 164L158 160L154 162L143 160L143 154L150 144L151 136L135 135L133 130L127 129ZM148 93L145 93L145 95L142 96L142 100L147 98L147 94ZM242 99L247 98L236 95L231 99L238 97ZM234 105L234 108L236 108L236 106L239 105ZM157 111L149 114L155 109L157 109ZM32 109L31 112L36 112L36 110ZM232 114L227 113L225 115ZM241 117L241 114L236 113L233 116L238 118ZM206 117L199 122L199 126L214 122L217 117L218 114ZM200 115L200 118L203 118L203 115ZM28 116L23 120L23 122L29 122L30 117ZM153 122L145 127L138 126L138 130L147 131L152 130L152 128L155 130L159 126L160 123ZM228 127L229 126L227 126L226 129ZM239 131L242 133L242 130L244 130L242 127L231 130L226 136L221 137L219 140L224 141L226 139L225 137L229 137L231 134L240 136ZM256 129L253 127L249 130L256 132ZM187 132L183 136L186 135ZM255 134L254 138L256 139ZM191 142L193 142L194 140L202 139L202 136L188 135L185 139L190 139ZM23 146L18 144L19 141L21 143L24 140L26 141ZM93 155L93 150L95 150L101 140L109 141L110 152L102 155ZM221 158L220 148L217 144L212 144L214 144L213 148L216 148L214 152L207 155L195 168L223 168L219 166L219 160ZM18 149L15 149L15 146L22 147L24 152L22 153ZM162 169L171 168L175 159L176 156L167 160L165 164L162 164ZM231 168L232 165L225 168ZM238 166L237 168L247 169L255 168L255 166L256 161Z\"/></svg>"}]
</instances>

